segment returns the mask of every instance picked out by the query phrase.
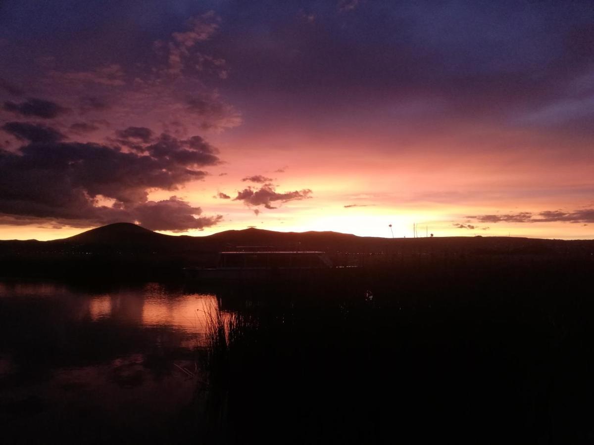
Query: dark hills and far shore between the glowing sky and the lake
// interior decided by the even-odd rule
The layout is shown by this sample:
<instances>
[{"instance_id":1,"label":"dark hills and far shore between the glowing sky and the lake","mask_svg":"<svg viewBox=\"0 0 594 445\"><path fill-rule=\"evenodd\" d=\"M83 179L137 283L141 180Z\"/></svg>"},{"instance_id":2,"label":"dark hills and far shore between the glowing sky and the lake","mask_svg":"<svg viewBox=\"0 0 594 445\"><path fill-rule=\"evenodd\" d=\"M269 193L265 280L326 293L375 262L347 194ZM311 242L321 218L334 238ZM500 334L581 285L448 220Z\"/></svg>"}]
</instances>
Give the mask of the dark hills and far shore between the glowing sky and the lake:
<instances>
[{"instance_id":1,"label":"dark hills and far shore between the glowing sky and the lake","mask_svg":"<svg viewBox=\"0 0 594 445\"><path fill-rule=\"evenodd\" d=\"M379 238L325 232L276 232L247 228L208 236L172 236L119 222L52 241L0 241L3 276L78 276L179 274L185 266L212 266L225 250L318 250L337 263L346 256L380 255L388 259L590 258L594 240L564 241L514 237ZM357 256L358 255L358 256ZM350 259L353 257L351 256ZM516 261L516 260L513 260ZM369 262L367 262L369 263Z\"/></svg>"}]
</instances>

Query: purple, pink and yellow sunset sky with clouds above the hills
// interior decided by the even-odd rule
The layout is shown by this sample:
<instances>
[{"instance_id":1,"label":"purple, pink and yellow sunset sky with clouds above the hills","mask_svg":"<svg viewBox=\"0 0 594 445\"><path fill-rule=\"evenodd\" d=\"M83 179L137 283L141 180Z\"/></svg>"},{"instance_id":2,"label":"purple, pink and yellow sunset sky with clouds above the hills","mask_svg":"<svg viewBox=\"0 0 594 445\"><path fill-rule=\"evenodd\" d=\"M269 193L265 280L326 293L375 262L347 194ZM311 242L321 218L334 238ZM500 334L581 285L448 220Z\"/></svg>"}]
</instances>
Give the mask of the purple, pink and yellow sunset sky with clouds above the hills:
<instances>
[{"instance_id":1,"label":"purple, pink and yellow sunset sky with clouds above the hills","mask_svg":"<svg viewBox=\"0 0 594 445\"><path fill-rule=\"evenodd\" d=\"M0 60L0 239L594 238L591 1L2 0Z\"/></svg>"}]
</instances>

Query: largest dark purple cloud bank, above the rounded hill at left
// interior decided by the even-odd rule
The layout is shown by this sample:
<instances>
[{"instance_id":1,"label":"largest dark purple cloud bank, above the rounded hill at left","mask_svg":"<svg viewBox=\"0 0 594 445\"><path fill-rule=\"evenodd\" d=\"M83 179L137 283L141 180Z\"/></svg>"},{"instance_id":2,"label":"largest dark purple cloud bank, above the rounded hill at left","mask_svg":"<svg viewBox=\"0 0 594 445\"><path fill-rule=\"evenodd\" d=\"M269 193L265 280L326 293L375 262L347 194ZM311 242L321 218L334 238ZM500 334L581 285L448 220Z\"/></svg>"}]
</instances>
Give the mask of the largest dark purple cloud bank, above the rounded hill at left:
<instances>
[{"instance_id":1,"label":"largest dark purple cloud bank, above the rounded hill at left","mask_svg":"<svg viewBox=\"0 0 594 445\"><path fill-rule=\"evenodd\" d=\"M17 153L0 150L0 214L5 220L45 218L81 227L141 221L157 230L200 229L220 220L196 218L201 209L175 197L147 199L150 190L176 190L203 179L207 173L198 167L219 162L215 149L201 138L179 141L162 135L157 147L124 152L108 145L61 142L59 132L48 127L9 124L12 134L31 143ZM111 204L100 205L105 199Z\"/></svg>"}]
</instances>

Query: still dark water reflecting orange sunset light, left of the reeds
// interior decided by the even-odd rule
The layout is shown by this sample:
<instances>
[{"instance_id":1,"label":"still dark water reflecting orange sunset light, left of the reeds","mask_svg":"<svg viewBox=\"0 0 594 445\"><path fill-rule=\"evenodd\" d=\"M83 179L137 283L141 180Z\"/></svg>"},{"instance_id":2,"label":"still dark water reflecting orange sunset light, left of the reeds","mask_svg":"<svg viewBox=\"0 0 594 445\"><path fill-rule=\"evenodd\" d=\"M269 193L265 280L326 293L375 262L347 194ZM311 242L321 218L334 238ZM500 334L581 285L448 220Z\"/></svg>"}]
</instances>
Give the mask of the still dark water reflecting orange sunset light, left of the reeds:
<instances>
[{"instance_id":1,"label":"still dark water reflecting orange sunset light, left of the reeds","mask_svg":"<svg viewBox=\"0 0 594 445\"><path fill-rule=\"evenodd\" d=\"M195 395L216 304L155 283L0 282L2 431L23 442L168 434Z\"/></svg>"}]
</instances>

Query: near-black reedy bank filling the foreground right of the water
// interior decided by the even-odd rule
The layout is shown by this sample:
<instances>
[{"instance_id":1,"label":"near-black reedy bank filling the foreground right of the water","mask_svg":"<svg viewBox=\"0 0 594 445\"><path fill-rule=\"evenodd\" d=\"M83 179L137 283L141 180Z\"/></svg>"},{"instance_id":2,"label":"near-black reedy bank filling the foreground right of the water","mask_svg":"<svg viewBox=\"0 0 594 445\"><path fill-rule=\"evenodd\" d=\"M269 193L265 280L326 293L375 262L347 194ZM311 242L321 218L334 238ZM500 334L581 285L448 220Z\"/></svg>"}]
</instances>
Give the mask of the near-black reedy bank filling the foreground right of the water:
<instances>
[{"instance_id":1,"label":"near-black reedy bank filling the foreground right of the water","mask_svg":"<svg viewBox=\"0 0 594 445\"><path fill-rule=\"evenodd\" d=\"M592 443L593 265L419 256L371 285L220 291L189 425L211 443Z\"/></svg>"}]
</instances>

